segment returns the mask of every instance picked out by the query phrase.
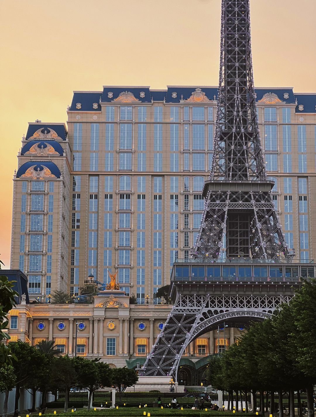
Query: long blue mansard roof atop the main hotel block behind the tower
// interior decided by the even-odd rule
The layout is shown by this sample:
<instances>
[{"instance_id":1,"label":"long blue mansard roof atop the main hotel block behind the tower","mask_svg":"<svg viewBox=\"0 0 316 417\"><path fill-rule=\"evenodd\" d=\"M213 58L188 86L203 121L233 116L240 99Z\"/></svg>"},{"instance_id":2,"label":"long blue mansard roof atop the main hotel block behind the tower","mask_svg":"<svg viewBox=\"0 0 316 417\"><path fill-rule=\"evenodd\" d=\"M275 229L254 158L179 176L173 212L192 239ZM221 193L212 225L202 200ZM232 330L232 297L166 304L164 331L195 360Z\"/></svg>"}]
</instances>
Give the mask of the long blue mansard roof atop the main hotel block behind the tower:
<instances>
[{"instance_id":1,"label":"long blue mansard roof atop the main hotel block behind the tower","mask_svg":"<svg viewBox=\"0 0 316 417\"><path fill-rule=\"evenodd\" d=\"M218 88L210 86L172 86L168 85L165 90L150 90L145 86L104 86L103 91L74 91L73 100L69 108L70 111L101 111L101 103L151 103L155 101L165 101L166 103L184 103L182 100L192 99L192 93L196 94L196 90L201 88L205 93L205 99L201 104L207 103L208 100L217 100ZM316 113L316 94L295 94L293 88L256 88L257 102L263 99L265 95L276 95L280 102L286 104L296 103L298 106L303 105L303 110L296 108L297 113ZM121 100L120 100L121 98ZM207 100L208 99L208 100ZM279 103L279 101L276 101ZM198 100L188 100L188 104L199 104ZM78 106L77 106L78 104ZM273 104L268 103L267 104ZM77 108L78 107L78 108ZM37 125L39 126L39 125ZM57 133L57 132L56 132Z\"/></svg>"}]
</instances>

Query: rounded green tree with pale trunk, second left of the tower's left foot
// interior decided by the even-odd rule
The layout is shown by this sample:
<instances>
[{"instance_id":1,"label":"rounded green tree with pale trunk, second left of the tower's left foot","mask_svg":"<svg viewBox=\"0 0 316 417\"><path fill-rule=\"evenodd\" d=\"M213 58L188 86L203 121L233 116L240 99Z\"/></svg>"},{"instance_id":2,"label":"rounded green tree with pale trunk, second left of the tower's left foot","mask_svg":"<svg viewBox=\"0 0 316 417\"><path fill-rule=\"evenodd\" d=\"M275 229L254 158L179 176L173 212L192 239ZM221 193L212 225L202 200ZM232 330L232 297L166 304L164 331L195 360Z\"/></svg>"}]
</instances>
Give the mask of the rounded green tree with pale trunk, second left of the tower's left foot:
<instances>
[{"instance_id":1,"label":"rounded green tree with pale trunk, second left of the tower's left foot","mask_svg":"<svg viewBox=\"0 0 316 417\"><path fill-rule=\"evenodd\" d=\"M99 362L100 358L85 359L76 357L75 372L78 375L77 387L89 390L88 409L90 409L93 392L99 388L110 387L112 385L112 372L109 365L105 362Z\"/></svg>"}]
</instances>

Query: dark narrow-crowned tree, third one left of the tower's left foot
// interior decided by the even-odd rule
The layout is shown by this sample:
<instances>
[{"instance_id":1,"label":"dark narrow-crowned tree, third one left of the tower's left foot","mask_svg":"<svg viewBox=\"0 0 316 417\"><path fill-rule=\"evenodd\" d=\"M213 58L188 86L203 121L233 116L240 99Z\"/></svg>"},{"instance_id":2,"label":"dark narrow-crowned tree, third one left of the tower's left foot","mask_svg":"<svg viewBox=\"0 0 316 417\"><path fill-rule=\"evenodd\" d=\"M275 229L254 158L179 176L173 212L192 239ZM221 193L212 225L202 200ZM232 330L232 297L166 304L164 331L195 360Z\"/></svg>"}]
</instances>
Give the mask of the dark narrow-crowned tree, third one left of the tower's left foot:
<instances>
[{"instance_id":1,"label":"dark narrow-crowned tree, third one left of the tower's left foot","mask_svg":"<svg viewBox=\"0 0 316 417\"><path fill-rule=\"evenodd\" d=\"M78 374L76 372L74 359L75 358L70 358L68 356L52 357L52 382L65 390L65 412L67 412L68 409L70 388L75 387L78 383Z\"/></svg>"}]
</instances>

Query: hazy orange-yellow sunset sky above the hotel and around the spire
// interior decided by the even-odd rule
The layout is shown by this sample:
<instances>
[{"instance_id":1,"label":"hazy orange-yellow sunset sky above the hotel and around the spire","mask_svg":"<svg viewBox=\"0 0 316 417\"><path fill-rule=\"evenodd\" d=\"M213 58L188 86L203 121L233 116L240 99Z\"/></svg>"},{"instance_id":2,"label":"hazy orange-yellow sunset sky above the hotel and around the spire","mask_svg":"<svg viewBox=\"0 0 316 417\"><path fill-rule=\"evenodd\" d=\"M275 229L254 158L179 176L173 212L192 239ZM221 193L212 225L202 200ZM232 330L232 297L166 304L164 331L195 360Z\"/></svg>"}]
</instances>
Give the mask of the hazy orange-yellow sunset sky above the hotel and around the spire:
<instances>
[{"instance_id":1,"label":"hazy orange-yellow sunset sky above the hotel and around the spire","mask_svg":"<svg viewBox=\"0 0 316 417\"><path fill-rule=\"evenodd\" d=\"M220 0L0 0L0 259L28 121L65 122L73 90L217 85ZM316 1L251 0L257 87L316 92Z\"/></svg>"}]
</instances>

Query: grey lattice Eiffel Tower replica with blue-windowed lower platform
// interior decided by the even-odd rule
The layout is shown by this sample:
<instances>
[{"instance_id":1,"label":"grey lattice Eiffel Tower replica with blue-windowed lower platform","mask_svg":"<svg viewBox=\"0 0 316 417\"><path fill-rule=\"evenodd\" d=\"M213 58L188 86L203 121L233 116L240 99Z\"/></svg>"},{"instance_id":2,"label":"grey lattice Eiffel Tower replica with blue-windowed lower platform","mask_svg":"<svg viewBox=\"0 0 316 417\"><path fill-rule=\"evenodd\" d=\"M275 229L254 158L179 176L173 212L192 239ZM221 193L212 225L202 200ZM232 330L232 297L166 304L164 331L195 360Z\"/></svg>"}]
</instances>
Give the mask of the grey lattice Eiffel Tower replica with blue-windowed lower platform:
<instances>
[{"instance_id":1,"label":"grey lattice Eiffel Tower replica with blue-windowed lower platform","mask_svg":"<svg viewBox=\"0 0 316 417\"><path fill-rule=\"evenodd\" d=\"M314 273L314 264L296 263L289 253L273 185L256 115L249 0L222 0L215 145L201 228L191 259L173 265L173 308L140 375L176 381L190 342L223 322L241 327L271 317L293 296L298 277Z\"/></svg>"}]
</instances>

